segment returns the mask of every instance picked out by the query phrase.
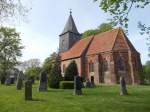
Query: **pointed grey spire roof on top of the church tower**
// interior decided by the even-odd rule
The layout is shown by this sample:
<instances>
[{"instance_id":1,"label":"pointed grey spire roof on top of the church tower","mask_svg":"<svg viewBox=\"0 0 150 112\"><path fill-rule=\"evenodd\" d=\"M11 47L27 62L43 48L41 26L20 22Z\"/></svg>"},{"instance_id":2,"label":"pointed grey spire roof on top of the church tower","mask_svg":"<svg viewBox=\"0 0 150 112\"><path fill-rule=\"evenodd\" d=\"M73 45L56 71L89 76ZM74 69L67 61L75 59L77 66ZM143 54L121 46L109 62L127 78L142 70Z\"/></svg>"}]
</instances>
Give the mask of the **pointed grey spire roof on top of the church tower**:
<instances>
[{"instance_id":1,"label":"pointed grey spire roof on top of the church tower","mask_svg":"<svg viewBox=\"0 0 150 112\"><path fill-rule=\"evenodd\" d=\"M73 32L73 33L79 34L79 32L78 32L78 30L76 28L75 22L73 20L71 11L70 11L70 15L69 15L69 18L67 20L67 23L65 25L65 28L64 28L64 30L63 30L63 32L61 34L64 34L66 32Z\"/></svg>"}]
</instances>

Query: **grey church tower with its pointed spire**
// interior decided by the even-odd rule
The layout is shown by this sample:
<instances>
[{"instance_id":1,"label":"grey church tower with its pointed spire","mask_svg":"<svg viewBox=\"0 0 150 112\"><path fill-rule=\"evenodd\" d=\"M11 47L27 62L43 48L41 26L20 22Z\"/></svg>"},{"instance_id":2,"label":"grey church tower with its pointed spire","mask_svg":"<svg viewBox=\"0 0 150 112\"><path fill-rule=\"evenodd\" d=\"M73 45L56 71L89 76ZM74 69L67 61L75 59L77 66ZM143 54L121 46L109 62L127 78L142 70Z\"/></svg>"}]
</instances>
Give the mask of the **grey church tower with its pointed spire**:
<instances>
[{"instance_id":1,"label":"grey church tower with its pointed spire","mask_svg":"<svg viewBox=\"0 0 150 112\"><path fill-rule=\"evenodd\" d=\"M72 12L65 25L63 32L59 35L59 52L65 52L69 50L78 40L80 40L81 34L78 32L74 23Z\"/></svg>"}]
</instances>

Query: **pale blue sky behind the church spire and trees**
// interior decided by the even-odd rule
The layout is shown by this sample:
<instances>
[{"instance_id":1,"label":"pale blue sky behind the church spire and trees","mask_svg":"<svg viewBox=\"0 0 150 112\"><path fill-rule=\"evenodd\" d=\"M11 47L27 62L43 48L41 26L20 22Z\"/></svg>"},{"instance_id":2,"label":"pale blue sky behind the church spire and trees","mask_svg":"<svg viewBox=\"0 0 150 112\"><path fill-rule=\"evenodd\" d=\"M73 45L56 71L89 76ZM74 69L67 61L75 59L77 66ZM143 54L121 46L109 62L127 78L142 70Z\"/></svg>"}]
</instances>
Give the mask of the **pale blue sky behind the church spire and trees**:
<instances>
[{"instance_id":1,"label":"pale blue sky behind the church spire and trees","mask_svg":"<svg viewBox=\"0 0 150 112\"><path fill-rule=\"evenodd\" d=\"M96 28L101 23L111 18L104 13L97 2L93 0L25 0L27 7L32 10L25 18L26 22L19 22L15 27L21 34L22 50L21 61L38 58L41 62L58 50L59 34L61 34L69 17L69 9L80 33ZM150 7L145 9L132 9L129 17L128 38L141 53L141 61L144 64L149 60L146 36L139 34L137 22L141 20L150 25Z\"/></svg>"}]
</instances>

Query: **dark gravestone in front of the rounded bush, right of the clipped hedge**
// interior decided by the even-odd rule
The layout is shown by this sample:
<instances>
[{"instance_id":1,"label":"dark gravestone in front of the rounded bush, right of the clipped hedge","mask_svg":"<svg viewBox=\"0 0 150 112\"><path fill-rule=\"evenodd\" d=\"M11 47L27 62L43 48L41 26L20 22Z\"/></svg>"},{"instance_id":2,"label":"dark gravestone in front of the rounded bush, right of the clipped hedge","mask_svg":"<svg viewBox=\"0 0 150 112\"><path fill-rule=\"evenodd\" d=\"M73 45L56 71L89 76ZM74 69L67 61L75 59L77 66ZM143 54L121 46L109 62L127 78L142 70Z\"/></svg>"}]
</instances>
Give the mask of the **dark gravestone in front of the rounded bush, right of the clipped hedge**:
<instances>
[{"instance_id":1,"label":"dark gravestone in front of the rounded bush, right of the clipped hedge","mask_svg":"<svg viewBox=\"0 0 150 112\"><path fill-rule=\"evenodd\" d=\"M82 95L82 82L80 76L74 77L74 95Z\"/></svg>"}]
</instances>

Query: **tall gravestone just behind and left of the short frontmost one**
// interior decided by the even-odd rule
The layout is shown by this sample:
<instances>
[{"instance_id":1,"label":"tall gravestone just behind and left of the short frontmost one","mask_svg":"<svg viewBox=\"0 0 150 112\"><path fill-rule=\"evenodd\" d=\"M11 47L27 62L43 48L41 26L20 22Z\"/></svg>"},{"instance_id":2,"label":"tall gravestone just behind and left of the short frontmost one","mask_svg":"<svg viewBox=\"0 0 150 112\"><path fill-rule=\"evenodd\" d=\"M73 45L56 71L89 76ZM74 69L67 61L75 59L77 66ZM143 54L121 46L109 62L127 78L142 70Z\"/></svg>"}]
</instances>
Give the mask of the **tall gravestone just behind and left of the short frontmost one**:
<instances>
[{"instance_id":1,"label":"tall gravestone just behind and left of the short frontmost one","mask_svg":"<svg viewBox=\"0 0 150 112\"><path fill-rule=\"evenodd\" d=\"M17 76L17 83L16 83L17 90L21 90L22 86L23 86L23 72L20 71Z\"/></svg>"}]
</instances>

